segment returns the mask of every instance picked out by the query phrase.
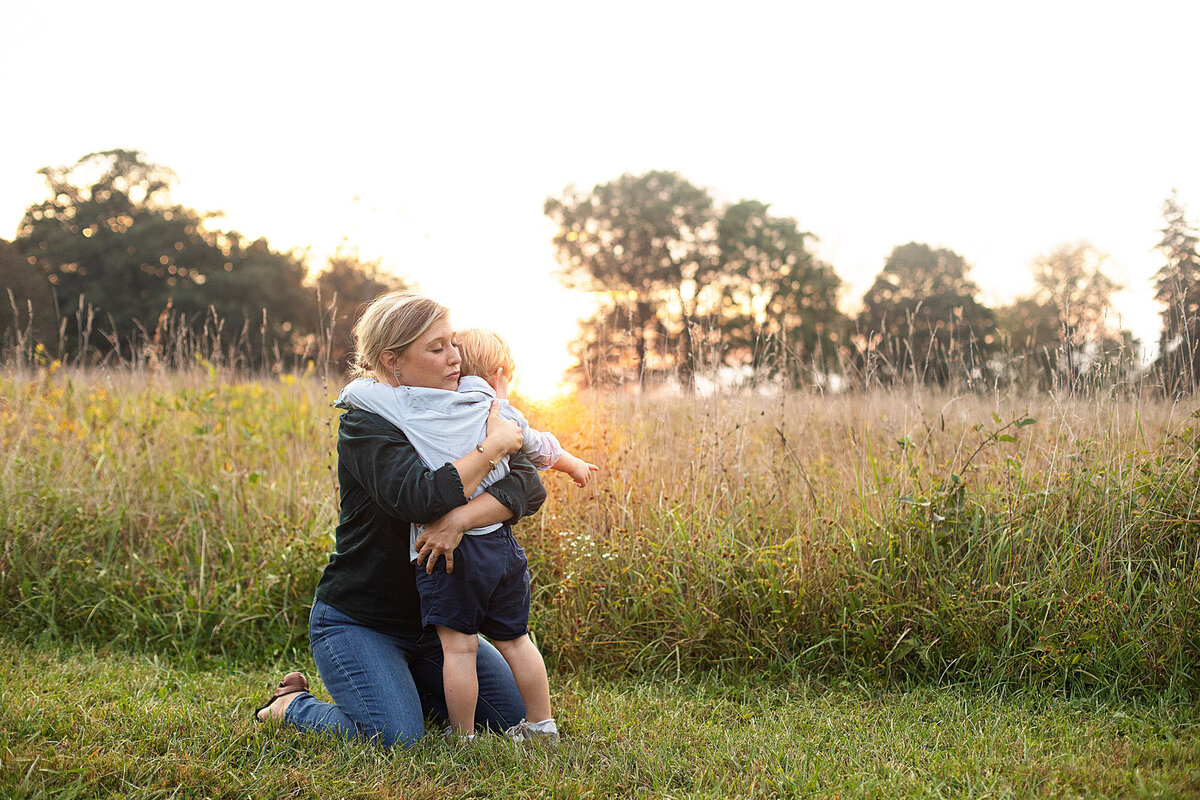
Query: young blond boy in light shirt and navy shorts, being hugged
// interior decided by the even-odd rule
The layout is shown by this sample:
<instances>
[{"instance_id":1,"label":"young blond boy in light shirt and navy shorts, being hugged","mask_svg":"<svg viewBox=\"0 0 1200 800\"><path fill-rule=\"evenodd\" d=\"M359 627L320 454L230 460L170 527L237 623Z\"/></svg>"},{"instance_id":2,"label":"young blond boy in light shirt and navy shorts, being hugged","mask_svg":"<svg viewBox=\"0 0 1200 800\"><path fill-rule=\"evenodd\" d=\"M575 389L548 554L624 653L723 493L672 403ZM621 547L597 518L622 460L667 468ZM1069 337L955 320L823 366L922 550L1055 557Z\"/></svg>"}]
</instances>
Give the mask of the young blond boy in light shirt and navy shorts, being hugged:
<instances>
[{"instance_id":1,"label":"young blond boy in light shirt and navy shorts, being hugged","mask_svg":"<svg viewBox=\"0 0 1200 800\"><path fill-rule=\"evenodd\" d=\"M383 416L408 437L418 455L431 469L455 461L469 451L462 441L481 441L486 434L492 401L499 402L500 416L521 426L521 451L539 469L556 469L586 486L595 464L565 452L551 433L534 431L524 416L508 403L508 383L515 363L499 336L479 329L458 333L462 379L458 391L414 386L389 386L368 378L350 381L337 398L340 408L359 408ZM466 432L450 435L450 432ZM461 452L455 452L457 439ZM480 483L475 494L508 474L508 457L502 458ZM528 722L522 720L508 733L516 741L558 740L558 726L550 710L550 684L541 654L529 638L529 570L524 551L506 524L468 530L455 551L457 569L446 573L445 563L427 572L416 564L415 543L421 527L409 536L409 559L416 570L421 597L421 622L434 626L442 640L442 676L451 729L464 739L474 738L475 703L479 681L475 674L478 633L496 644L508 661L526 703Z\"/></svg>"}]
</instances>

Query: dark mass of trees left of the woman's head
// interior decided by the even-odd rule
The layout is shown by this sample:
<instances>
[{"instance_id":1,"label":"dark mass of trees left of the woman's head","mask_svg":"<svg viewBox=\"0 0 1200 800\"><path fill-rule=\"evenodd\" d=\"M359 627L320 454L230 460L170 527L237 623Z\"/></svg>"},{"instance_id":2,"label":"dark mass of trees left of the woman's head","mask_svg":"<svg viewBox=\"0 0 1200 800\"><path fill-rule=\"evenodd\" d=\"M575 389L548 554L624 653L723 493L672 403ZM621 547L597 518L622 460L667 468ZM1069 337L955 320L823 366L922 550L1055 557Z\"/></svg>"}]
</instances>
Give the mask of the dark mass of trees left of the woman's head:
<instances>
[{"instance_id":1,"label":"dark mass of trees left of the woman's head","mask_svg":"<svg viewBox=\"0 0 1200 800\"><path fill-rule=\"evenodd\" d=\"M194 355L252 369L344 360L358 308L408 285L341 248L310 277L305 255L221 230L170 199L175 175L139 151L46 167L47 196L0 240L7 350L78 361ZM336 335L340 332L341 335Z\"/></svg>"}]
</instances>

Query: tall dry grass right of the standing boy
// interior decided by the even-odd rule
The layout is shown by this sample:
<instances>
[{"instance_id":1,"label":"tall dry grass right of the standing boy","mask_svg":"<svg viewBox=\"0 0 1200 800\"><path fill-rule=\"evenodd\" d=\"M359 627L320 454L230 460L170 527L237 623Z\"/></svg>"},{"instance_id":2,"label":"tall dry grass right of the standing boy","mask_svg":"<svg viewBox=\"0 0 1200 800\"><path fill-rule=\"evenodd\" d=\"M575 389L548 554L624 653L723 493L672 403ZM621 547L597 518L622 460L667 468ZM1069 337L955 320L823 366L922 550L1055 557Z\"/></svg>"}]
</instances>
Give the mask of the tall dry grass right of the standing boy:
<instances>
[{"instance_id":1,"label":"tall dry grass right of the standing boy","mask_svg":"<svg viewBox=\"0 0 1200 800\"><path fill-rule=\"evenodd\" d=\"M608 480L588 503L556 491L527 534L565 662L1196 686L1187 407L908 390L584 409Z\"/></svg>"}]
</instances>

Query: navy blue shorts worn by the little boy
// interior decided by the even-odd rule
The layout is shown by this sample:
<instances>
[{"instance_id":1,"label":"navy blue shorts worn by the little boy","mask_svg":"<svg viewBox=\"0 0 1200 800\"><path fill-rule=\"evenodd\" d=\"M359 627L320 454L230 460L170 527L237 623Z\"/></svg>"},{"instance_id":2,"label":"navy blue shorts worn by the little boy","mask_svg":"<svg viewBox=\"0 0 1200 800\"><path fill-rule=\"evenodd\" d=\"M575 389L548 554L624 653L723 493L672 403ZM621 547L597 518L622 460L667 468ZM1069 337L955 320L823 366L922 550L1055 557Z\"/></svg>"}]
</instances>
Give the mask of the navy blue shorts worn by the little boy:
<instances>
[{"instance_id":1,"label":"navy blue shorts worn by the little boy","mask_svg":"<svg viewBox=\"0 0 1200 800\"><path fill-rule=\"evenodd\" d=\"M421 625L482 633L508 642L529 632L529 566L512 529L466 535L454 552L454 572L438 559L433 575L416 566Z\"/></svg>"}]
</instances>

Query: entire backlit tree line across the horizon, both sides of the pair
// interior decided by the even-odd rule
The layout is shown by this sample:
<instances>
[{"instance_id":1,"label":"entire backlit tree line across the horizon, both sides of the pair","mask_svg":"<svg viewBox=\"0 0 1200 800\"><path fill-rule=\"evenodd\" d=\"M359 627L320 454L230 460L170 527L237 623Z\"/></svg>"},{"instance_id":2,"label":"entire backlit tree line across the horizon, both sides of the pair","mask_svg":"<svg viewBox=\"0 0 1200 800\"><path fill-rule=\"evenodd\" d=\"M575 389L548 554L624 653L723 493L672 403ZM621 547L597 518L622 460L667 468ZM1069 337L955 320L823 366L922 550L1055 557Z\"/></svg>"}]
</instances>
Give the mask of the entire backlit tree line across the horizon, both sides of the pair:
<instances>
[{"instance_id":1,"label":"entire backlit tree line across the horizon, both sides of the pair","mask_svg":"<svg viewBox=\"0 0 1200 800\"><path fill-rule=\"evenodd\" d=\"M362 303L408 287L342 248L310 276L277 251L170 198L174 174L133 150L41 170L47 196L0 240L7 353L182 363L196 354L251 369L341 366ZM815 235L767 203L718 204L672 172L625 174L546 200L563 281L593 293L576 378L589 385L769 380L1021 383L1082 389L1142 380L1192 391L1200 372L1198 235L1172 194L1156 276L1159 357L1111 323L1120 287L1104 255L1066 243L1033 261L1036 289L989 308L952 249L898 245L853 315Z\"/></svg>"}]
</instances>

